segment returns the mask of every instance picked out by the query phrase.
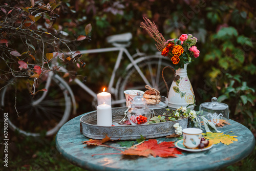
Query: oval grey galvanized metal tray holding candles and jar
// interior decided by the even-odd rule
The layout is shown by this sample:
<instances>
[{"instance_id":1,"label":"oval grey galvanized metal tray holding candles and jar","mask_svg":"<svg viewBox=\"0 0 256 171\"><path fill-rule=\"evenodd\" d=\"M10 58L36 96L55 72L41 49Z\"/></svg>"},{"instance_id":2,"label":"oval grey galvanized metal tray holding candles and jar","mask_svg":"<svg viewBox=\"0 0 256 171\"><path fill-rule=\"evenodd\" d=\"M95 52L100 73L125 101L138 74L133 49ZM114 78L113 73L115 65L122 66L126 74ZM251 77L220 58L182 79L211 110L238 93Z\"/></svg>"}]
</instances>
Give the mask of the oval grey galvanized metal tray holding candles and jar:
<instances>
[{"instance_id":1,"label":"oval grey galvanized metal tray holding candles and jar","mask_svg":"<svg viewBox=\"0 0 256 171\"><path fill-rule=\"evenodd\" d=\"M112 108L112 120L120 121L124 117L127 107ZM163 114L166 109L155 109L155 116ZM127 119L127 118L126 118ZM188 124L188 119L176 121L144 124L144 125L117 125L97 126L97 111L87 113L80 118L80 132L92 139L103 139L108 135L112 140L135 140L142 135L145 138L158 138L175 133L173 125L179 123L182 129Z\"/></svg>"}]
</instances>

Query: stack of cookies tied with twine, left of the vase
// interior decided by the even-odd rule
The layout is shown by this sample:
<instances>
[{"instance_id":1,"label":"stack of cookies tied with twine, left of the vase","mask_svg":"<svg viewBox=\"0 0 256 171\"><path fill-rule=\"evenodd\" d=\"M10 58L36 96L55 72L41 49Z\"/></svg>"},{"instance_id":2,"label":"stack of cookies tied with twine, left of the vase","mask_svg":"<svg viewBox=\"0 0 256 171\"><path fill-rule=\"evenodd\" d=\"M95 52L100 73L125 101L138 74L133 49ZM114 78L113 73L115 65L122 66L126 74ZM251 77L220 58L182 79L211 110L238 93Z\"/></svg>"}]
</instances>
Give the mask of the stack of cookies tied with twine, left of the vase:
<instances>
[{"instance_id":1,"label":"stack of cookies tied with twine, left of the vase","mask_svg":"<svg viewBox=\"0 0 256 171\"><path fill-rule=\"evenodd\" d=\"M150 86L146 85L146 89L143 94L144 99L147 101L147 104L158 104L160 103L160 92L156 89L152 89Z\"/></svg>"}]
</instances>

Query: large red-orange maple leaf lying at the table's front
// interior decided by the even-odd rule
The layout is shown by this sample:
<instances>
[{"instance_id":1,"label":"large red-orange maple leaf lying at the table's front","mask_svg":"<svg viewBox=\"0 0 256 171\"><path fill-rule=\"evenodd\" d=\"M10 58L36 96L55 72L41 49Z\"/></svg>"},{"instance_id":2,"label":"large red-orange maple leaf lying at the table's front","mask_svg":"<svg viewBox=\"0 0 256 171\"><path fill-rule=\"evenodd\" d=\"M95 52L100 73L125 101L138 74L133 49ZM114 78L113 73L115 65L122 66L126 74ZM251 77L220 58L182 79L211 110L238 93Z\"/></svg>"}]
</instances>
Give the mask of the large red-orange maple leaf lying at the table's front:
<instances>
[{"instance_id":1,"label":"large red-orange maple leaf lying at the table's front","mask_svg":"<svg viewBox=\"0 0 256 171\"><path fill-rule=\"evenodd\" d=\"M182 154L174 147L174 141L157 143L156 139L145 141L134 149L126 149L121 152L124 155L138 155L148 157L150 154L154 157L177 157L176 154Z\"/></svg>"}]
</instances>

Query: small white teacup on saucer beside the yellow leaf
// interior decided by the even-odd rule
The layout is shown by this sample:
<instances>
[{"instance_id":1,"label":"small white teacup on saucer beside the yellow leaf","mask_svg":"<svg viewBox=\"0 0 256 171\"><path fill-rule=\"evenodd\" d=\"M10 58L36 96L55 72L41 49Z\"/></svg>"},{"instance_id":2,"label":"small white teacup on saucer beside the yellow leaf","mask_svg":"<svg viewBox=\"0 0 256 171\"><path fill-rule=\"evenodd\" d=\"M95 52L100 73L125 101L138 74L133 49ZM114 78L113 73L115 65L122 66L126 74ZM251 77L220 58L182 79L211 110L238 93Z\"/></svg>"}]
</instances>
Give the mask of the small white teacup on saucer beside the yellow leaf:
<instances>
[{"instance_id":1,"label":"small white teacup on saucer beside the yellow leaf","mask_svg":"<svg viewBox=\"0 0 256 171\"><path fill-rule=\"evenodd\" d=\"M183 145L186 148L196 148L200 142L203 131L193 127L182 130Z\"/></svg>"}]
</instances>

